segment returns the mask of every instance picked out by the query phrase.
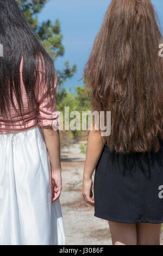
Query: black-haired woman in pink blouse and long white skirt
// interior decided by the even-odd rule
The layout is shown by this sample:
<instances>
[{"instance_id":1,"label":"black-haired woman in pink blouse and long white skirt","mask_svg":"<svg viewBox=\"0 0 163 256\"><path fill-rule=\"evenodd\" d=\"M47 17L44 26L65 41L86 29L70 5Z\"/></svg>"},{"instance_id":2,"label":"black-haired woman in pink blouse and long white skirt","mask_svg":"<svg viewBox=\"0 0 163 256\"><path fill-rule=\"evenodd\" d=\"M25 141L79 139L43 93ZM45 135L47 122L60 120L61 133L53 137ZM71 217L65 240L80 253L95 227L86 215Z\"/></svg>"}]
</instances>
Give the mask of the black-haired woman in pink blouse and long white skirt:
<instances>
[{"instance_id":1,"label":"black-haired woman in pink blouse and long white skirt","mask_svg":"<svg viewBox=\"0 0 163 256\"><path fill-rule=\"evenodd\" d=\"M15 0L0 13L0 245L65 245L53 60Z\"/></svg>"}]
</instances>

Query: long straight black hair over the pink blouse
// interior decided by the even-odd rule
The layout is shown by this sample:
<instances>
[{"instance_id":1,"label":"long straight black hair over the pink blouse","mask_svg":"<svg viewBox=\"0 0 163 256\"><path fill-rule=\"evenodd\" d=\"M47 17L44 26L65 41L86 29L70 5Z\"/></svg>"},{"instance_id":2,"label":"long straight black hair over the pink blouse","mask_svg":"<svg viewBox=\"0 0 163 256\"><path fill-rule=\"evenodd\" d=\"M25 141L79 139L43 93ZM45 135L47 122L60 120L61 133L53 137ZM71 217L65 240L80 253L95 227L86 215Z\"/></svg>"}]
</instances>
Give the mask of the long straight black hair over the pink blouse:
<instances>
[{"instance_id":1,"label":"long straight black hair over the pink blouse","mask_svg":"<svg viewBox=\"0 0 163 256\"><path fill-rule=\"evenodd\" d=\"M41 45L39 37L30 28L16 1L0 0L0 13L0 44L3 47L3 57L0 57L0 114L5 118L10 117L11 102L23 119L22 109L24 111L24 107L20 82L22 57L22 77L26 88L28 107L34 107L36 103L34 86L37 72L43 70L44 79L41 86L47 86L47 95L50 96L51 90L55 94L56 72L52 58ZM20 112L15 107L13 92Z\"/></svg>"}]
</instances>

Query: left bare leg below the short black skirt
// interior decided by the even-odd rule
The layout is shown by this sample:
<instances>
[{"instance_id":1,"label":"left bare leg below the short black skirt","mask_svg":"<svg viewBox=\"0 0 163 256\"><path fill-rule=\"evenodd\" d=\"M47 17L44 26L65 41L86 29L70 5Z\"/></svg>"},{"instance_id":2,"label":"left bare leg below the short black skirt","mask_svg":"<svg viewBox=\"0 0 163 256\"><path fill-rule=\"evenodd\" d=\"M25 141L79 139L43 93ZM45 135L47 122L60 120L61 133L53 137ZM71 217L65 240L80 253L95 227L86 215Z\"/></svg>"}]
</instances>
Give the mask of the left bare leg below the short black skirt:
<instances>
[{"instance_id":1,"label":"left bare leg below the short black skirt","mask_svg":"<svg viewBox=\"0 0 163 256\"><path fill-rule=\"evenodd\" d=\"M112 245L137 245L136 224L109 221Z\"/></svg>"}]
</instances>

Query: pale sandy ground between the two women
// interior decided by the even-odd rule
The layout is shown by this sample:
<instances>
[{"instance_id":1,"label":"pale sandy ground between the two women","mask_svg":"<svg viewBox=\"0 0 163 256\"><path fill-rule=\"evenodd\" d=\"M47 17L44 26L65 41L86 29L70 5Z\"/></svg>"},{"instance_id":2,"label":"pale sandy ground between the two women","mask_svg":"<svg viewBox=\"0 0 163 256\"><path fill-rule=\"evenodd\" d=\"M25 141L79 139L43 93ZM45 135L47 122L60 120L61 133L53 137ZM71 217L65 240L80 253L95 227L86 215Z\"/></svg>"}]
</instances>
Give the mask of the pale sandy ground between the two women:
<instances>
[{"instance_id":1,"label":"pale sandy ground between the two women","mask_svg":"<svg viewBox=\"0 0 163 256\"><path fill-rule=\"evenodd\" d=\"M94 209L83 201L84 160L79 144L61 150L63 190L60 202L67 245L112 245L108 222L96 218Z\"/></svg>"}]
</instances>

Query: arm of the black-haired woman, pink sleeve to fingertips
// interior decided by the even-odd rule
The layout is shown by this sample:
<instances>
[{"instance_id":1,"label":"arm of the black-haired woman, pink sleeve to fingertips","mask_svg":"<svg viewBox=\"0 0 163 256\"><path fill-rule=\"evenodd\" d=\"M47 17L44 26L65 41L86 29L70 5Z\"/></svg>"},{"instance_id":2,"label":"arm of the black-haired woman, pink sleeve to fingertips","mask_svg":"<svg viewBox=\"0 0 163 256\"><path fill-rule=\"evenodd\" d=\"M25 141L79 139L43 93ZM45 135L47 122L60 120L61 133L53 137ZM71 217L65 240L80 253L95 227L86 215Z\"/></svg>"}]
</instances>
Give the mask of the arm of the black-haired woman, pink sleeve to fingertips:
<instances>
[{"instance_id":1,"label":"arm of the black-haired woman, pink sleeve to fingertips","mask_svg":"<svg viewBox=\"0 0 163 256\"><path fill-rule=\"evenodd\" d=\"M54 90L52 90L51 87L49 94L47 93L48 86L45 78L46 75L40 57L37 81L35 84L35 98L39 110L37 115L37 125L41 127L51 163L52 202L54 202L60 197L62 188L59 131L53 129L53 125L59 126L59 113L55 109L57 76L54 78Z\"/></svg>"}]
</instances>

